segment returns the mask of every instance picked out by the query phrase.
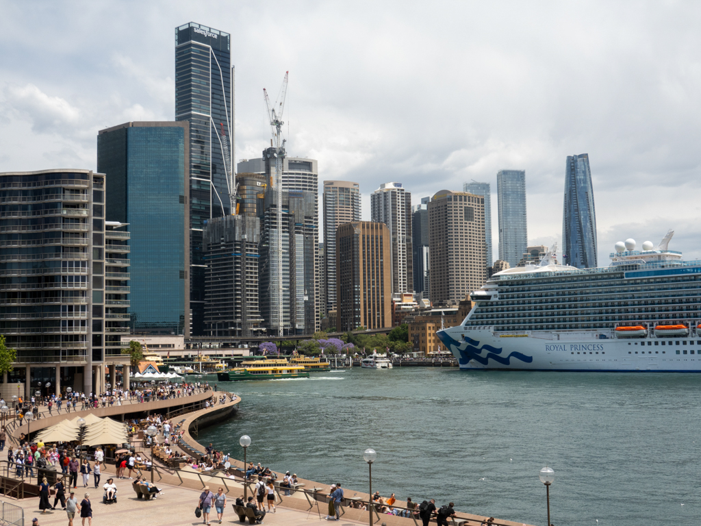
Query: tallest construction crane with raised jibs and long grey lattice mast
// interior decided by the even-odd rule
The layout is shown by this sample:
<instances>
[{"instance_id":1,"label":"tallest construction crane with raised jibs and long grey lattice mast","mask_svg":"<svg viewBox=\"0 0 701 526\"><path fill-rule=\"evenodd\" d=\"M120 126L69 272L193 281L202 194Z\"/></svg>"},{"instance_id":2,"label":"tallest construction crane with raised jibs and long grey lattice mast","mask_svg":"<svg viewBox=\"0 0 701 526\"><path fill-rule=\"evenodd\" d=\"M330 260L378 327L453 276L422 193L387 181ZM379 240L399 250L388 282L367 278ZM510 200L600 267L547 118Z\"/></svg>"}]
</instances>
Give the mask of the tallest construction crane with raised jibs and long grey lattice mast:
<instances>
[{"instance_id":1,"label":"tallest construction crane with raised jibs and long grey lattice mast","mask_svg":"<svg viewBox=\"0 0 701 526\"><path fill-rule=\"evenodd\" d=\"M285 72L283 86L278 93L278 100L275 104L271 104L268 92L263 88L265 97L265 105L268 110L268 119L270 119L270 128L273 134L271 145L275 148L273 155L275 156L275 173L271 174L271 185L275 185L275 195L277 203L275 210L278 213L277 228L278 228L278 290L275 291L273 300L277 304L278 309L278 336L283 335L283 159L285 159L285 140L283 140L283 112L285 112L285 95L287 95L287 76L290 72ZM281 142L282 141L282 142Z\"/></svg>"}]
</instances>

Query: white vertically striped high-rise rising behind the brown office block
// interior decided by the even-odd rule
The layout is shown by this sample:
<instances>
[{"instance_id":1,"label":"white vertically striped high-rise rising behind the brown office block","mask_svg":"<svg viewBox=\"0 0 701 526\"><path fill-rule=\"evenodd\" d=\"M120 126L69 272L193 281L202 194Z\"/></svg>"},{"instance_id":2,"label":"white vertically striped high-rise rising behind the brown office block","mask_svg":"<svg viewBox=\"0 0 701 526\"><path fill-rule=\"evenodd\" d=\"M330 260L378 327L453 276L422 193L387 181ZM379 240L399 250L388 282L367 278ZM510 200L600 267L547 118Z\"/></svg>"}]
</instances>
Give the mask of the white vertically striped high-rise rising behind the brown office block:
<instances>
[{"instance_id":1,"label":"white vertically striped high-rise rising behind the brown office block","mask_svg":"<svg viewBox=\"0 0 701 526\"><path fill-rule=\"evenodd\" d=\"M381 184L370 195L374 222L384 223L390 230L392 247L392 292L414 289L414 255L411 248L411 194L400 182Z\"/></svg>"}]
</instances>

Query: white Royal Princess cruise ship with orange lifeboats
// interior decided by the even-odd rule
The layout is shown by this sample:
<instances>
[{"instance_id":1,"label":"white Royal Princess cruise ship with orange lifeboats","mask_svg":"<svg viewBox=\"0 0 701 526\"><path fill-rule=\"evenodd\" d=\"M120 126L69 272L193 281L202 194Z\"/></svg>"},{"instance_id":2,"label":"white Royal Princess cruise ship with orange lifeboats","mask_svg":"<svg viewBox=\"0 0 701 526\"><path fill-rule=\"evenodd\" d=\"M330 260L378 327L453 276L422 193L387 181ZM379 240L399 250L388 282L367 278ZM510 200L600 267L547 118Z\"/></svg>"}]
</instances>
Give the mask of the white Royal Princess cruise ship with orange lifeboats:
<instances>
[{"instance_id":1,"label":"white Royal Princess cruise ship with orange lifeboats","mask_svg":"<svg viewBox=\"0 0 701 526\"><path fill-rule=\"evenodd\" d=\"M608 267L557 263L498 272L461 325L437 332L464 370L701 372L701 261L615 244Z\"/></svg>"}]
</instances>

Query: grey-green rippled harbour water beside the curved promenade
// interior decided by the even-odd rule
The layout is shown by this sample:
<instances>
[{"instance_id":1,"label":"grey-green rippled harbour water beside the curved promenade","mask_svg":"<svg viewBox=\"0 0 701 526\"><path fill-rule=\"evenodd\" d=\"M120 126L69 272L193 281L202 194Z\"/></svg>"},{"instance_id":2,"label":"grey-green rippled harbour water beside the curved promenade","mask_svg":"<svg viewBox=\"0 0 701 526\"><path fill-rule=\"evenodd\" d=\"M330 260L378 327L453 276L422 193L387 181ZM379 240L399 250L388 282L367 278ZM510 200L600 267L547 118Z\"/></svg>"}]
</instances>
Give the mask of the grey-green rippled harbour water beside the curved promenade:
<instances>
[{"instance_id":1,"label":"grey-green rippled harbour water beside the curved promenade","mask_svg":"<svg viewBox=\"0 0 701 526\"><path fill-rule=\"evenodd\" d=\"M699 375L461 372L395 367L231 382L238 416L200 432L243 458L398 499L545 524L701 521ZM352 493L351 493L352 495ZM597 522L598 520L598 522Z\"/></svg>"}]
</instances>

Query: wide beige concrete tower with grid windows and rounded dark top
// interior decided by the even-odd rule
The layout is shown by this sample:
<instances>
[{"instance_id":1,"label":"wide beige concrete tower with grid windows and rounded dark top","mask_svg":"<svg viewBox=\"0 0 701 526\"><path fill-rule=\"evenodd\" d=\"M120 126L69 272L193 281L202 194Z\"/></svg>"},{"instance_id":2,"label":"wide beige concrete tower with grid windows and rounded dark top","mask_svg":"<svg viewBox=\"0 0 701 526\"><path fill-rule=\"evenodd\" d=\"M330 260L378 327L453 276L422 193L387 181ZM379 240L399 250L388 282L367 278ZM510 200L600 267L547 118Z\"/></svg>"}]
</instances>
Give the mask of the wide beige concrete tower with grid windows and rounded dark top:
<instances>
[{"instance_id":1,"label":"wide beige concrete tower with grid windows and rounded dark top","mask_svg":"<svg viewBox=\"0 0 701 526\"><path fill-rule=\"evenodd\" d=\"M484 196L442 190L428 203L430 300L458 304L486 281Z\"/></svg>"}]
</instances>

